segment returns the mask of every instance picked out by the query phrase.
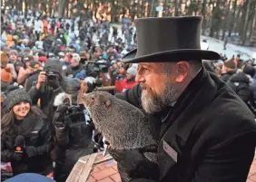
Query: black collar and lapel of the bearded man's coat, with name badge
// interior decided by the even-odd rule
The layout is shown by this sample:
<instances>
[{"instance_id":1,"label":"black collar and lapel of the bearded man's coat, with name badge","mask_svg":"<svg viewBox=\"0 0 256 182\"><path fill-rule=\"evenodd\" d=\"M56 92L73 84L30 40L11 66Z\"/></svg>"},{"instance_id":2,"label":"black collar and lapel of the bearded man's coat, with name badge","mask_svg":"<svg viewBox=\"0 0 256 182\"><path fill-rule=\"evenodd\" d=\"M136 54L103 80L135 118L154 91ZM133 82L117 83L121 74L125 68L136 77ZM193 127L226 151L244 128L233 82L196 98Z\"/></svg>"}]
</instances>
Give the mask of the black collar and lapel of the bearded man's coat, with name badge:
<instances>
[{"instance_id":1,"label":"black collar and lapel of the bearded man's coat, with name badge","mask_svg":"<svg viewBox=\"0 0 256 182\"><path fill-rule=\"evenodd\" d=\"M199 75L183 91L172 110L172 114L162 123L161 140L158 147L160 180L169 172L176 176L185 170L177 169L181 168L183 164L182 153L184 148L187 148L187 139L194 126L202 118L204 111L214 100L216 92L217 87L214 81L212 81L209 73L202 68Z\"/></svg>"}]
</instances>

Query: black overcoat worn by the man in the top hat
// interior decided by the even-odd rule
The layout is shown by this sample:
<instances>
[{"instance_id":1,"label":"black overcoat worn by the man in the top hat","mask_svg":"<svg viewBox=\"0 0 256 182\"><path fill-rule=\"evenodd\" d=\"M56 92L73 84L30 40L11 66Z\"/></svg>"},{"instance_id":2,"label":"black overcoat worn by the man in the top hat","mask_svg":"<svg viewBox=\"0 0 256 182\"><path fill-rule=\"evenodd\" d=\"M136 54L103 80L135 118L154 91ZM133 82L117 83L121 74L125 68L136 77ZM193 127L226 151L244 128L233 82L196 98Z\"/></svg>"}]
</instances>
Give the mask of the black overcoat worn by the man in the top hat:
<instances>
[{"instance_id":1,"label":"black overcoat worn by the man in the top hat","mask_svg":"<svg viewBox=\"0 0 256 182\"><path fill-rule=\"evenodd\" d=\"M142 109L139 86L116 97ZM245 182L256 143L254 116L217 75L204 68L174 107L150 115L166 182Z\"/></svg>"}]
</instances>

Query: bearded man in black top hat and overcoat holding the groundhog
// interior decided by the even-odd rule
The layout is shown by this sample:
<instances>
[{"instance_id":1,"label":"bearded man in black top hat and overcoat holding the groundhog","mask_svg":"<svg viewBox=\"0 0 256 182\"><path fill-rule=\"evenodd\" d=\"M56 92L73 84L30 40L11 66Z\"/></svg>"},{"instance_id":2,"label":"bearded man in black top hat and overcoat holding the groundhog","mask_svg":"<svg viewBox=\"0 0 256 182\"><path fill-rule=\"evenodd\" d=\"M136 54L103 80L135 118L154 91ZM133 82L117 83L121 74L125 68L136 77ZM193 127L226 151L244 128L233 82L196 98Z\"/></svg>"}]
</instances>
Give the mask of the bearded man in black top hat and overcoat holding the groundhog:
<instances>
[{"instance_id":1,"label":"bearded man in black top hat and overcoat holding the groundhog","mask_svg":"<svg viewBox=\"0 0 256 182\"><path fill-rule=\"evenodd\" d=\"M116 97L147 113L156 163L142 152L116 150L123 181L245 182L256 124L231 88L202 66L220 55L202 51L202 16L136 19L138 47L123 62L138 62L139 83Z\"/></svg>"}]
</instances>

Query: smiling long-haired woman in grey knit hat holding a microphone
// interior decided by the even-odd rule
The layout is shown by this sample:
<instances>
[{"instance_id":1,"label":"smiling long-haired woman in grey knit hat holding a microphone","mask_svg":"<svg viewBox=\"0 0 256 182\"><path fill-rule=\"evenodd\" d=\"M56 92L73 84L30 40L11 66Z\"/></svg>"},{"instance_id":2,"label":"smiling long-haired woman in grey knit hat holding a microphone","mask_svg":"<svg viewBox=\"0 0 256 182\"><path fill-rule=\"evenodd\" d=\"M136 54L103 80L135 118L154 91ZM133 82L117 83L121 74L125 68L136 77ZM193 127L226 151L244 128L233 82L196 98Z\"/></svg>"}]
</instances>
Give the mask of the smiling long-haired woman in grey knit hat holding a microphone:
<instances>
[{"instance_id":1,"label":"smiling long-haired woman in grey knit hat holding a microphone","mask_svg":"<svg viewBox=\"0 0 256 182\"><path fill-rule=\"evenodd\" d=\"M53 171L50 158L53 139L44 112L32 106L24 89L7 94L7 110L1 120L1 161L11 163L14 175L27 172L49 175Z\"/></svg>"}]
</instances>

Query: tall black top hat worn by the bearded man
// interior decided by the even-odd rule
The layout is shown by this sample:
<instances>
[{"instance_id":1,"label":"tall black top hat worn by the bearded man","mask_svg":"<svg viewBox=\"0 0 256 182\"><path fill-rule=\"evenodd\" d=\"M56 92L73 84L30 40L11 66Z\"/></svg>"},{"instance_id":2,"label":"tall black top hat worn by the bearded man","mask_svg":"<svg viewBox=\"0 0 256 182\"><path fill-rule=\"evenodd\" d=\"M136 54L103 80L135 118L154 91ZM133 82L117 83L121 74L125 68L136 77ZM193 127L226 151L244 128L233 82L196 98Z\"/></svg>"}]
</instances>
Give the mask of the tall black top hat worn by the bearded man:
<instances>
[{"instance_id":1,"label":"tall black top hat worn by the bearded man","mask_svg":"<svg viewBox=\"0 0 256 182\"><path fill-rule=\"evenodd\" d=\"M219 53L201 50L202 16L135 20L138 47L123 62L219 60Z\"/></svg>"}]
</instances>

